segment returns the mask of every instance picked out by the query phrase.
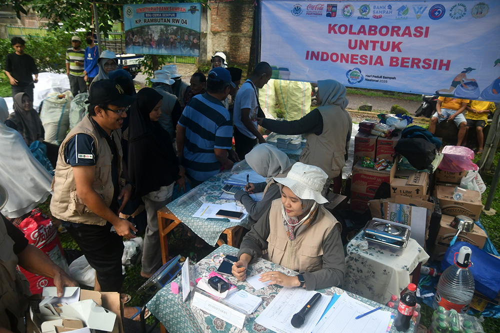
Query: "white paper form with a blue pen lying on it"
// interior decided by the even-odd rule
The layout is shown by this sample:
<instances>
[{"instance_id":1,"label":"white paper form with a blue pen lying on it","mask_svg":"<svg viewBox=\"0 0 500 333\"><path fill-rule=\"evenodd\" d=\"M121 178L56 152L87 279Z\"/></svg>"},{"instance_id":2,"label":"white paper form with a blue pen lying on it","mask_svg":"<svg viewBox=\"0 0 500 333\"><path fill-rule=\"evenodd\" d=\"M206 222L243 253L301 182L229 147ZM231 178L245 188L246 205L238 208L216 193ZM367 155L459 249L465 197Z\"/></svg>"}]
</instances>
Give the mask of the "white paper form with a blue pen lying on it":
<instances>
[{"instance_id":1,"label":"white paper form with a blue pen lying on it","mask_svg":"<svg viewBox=\"0 0 500 333\"><path fill-rule=\"evenodd\" d=\"M330 333L332 327L336 333L385 333L390 321L390 312L378 310L355 319L373 309L343 293L317 323L312 333Z\"/></svg>"}]
</instances>

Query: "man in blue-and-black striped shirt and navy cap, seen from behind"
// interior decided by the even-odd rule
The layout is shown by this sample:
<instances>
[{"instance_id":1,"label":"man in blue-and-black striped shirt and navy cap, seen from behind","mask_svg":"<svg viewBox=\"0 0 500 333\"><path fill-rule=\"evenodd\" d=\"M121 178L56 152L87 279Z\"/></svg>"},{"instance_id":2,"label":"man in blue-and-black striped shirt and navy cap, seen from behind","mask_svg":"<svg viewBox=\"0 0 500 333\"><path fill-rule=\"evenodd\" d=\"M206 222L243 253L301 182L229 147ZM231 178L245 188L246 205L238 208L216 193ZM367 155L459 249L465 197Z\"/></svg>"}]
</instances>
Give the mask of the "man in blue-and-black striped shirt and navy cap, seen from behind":
<instances>
[{"instance_id":1,"label":"man in blue-and-black striped shirt and navy cap, seen from behind","mask_svg":"<svg viewBox=\"0 0 500 333\"><path fill-rule=\"evenodd\" d=\"M229 94L229 71L216 67L208 73L206 92L191 98L177 123L177 155L197 186L237 160L232 148L232 121L222 102Z\"/></svg>"}]
</instances>

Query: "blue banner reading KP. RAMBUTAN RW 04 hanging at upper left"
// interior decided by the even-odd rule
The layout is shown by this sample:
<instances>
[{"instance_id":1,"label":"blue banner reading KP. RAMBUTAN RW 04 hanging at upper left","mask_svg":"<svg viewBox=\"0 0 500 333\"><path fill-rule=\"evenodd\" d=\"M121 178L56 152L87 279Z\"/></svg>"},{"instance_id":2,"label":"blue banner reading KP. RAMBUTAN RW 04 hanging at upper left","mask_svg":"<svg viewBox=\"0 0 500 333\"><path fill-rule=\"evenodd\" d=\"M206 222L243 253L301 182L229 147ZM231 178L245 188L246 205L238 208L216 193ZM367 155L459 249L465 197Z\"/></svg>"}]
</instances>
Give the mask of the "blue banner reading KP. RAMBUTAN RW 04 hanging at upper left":
<instances>
[{"instance_id":1,"label":"blue banner reading KP. RAMBUTAN RW 04 hanging at upper left","mask_svg":"<svg viewBox=\"0 0 500 333\"><path fill-rule=\"evenodd\" d=\"M199 3L125 4L125 50L198 56L200 17Z\"/></svg>"}]
</instances>

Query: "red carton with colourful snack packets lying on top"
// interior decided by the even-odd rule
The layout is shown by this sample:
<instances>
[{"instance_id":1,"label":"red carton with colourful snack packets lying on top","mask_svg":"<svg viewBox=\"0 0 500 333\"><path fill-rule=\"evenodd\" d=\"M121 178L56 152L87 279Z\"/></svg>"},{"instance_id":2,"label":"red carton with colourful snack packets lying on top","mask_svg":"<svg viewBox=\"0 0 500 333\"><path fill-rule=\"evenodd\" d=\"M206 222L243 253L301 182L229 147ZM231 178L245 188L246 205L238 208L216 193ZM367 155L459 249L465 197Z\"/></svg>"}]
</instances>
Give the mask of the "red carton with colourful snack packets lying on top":
<instances>
[{"instance_id":1,"label":"red carton with colourful snack packets lying on top","mask_svg":"<svg viewBox=\"0 0 500 333\"><path fill-rule=\"evenodd\" d=\"M370 194L373 199L376 191L382 183L390 184L394 178L397 169L397 163L394 163L391 169L376 170L373 168L365 168L361 166L361 161L358 161L352 169L351 191L357 193Z\"/></svg>"}]
</instances>

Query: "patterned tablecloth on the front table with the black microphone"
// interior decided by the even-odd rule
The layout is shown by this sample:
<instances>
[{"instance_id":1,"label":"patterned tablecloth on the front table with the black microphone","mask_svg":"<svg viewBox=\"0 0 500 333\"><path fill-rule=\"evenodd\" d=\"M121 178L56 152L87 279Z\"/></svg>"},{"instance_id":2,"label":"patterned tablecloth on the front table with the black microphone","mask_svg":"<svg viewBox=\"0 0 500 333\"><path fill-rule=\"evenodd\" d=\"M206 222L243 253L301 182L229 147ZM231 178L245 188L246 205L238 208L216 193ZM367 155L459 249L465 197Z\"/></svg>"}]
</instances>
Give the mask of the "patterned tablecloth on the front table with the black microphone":
<instances>
[{"instance_id":1,"label":"patterned tablecloth on the front table with the black microphone","mask_svg":"<svg viewBox=\"0 0 500 333\"><path fill-rule=\"evenodd\" d=\"M195 267L195 277L207 276L210 272L214 271L218 267L218 263L213 261L213 258L219 258L218 254L225 255L235 255L237 249L230 247L228 245L222 245L213 251L203 260L199 261ZM269 271L279 271L284 274L294 275L296 272L283 268L279 265L273 264L269 261L258 259L252 265L248 266L248 271L250 275L261 274ZM200 333L200 332L210 332L210 333L220 333L220 332L265 332L270 333L272 331L255 323L255 318L262 313L262 311L269 305L269 303L276 297L278 292L282 287L272 285L260 290L255 290L247 282L239 282L234 277L229 278L230 282L238 287L239 290L245 290L250 294L259 296L262 299L261 305L257 310L248 316L243 329L228 324L221 319L218 319L212 315L201 311L196 307L191 307L191 297L192 293L189 294L186 302L182 302L182 291L180 286L182 285L181 277L177 277L174 282L179 286L179 294L175 295L171 292L170 285L166 285L147 303L147 309L161 321L163 326L169 333ZM320 289L318 292L325 295L342 294L344 291L342 289L332 287L329 289ZM373 307L380 306L378 303L367 300L363 297L356 296L354 294L348 293L349 296L369 304ZM387 307L382 307L383 310L391 311L395 313L394 309L389 309ZM392 327L389 331L390 333L395 333L396 330ZM414 332L414 324L411 322L411 326L408 333Z\"/></svg>"}]
</instances>

